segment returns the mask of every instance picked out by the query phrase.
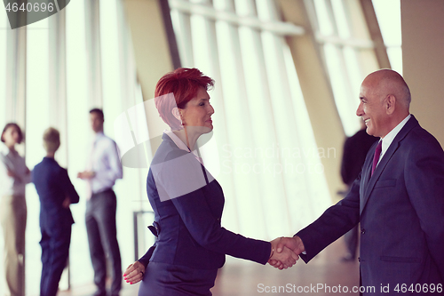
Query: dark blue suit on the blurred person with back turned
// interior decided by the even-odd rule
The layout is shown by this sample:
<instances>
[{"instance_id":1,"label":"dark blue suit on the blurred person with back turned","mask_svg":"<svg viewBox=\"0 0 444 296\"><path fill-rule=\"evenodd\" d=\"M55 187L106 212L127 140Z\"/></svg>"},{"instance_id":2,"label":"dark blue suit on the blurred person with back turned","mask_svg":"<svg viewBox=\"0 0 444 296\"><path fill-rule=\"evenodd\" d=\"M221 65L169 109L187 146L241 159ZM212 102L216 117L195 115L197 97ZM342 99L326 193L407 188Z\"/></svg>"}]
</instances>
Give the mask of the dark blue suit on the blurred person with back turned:
<instances>
[{"instance_id":1,"label":"dark blue suit on the blurred person with back turned","mask_svg":"<svg viewBox=\"0 0 444 296\"><path fill-rule=\"evenodd\" d=\"M66 197L71 204L79 196L67 175L67 170L49 157L37 164L32 171L32 182L40 198L40 229L42 231L41 296L55 296L63 268L67 264L71 225L74 223L69 208L62 206Z\"/></svg>"}]
</instances>

